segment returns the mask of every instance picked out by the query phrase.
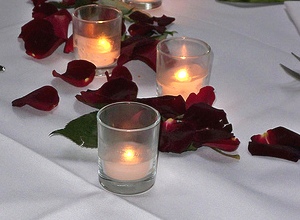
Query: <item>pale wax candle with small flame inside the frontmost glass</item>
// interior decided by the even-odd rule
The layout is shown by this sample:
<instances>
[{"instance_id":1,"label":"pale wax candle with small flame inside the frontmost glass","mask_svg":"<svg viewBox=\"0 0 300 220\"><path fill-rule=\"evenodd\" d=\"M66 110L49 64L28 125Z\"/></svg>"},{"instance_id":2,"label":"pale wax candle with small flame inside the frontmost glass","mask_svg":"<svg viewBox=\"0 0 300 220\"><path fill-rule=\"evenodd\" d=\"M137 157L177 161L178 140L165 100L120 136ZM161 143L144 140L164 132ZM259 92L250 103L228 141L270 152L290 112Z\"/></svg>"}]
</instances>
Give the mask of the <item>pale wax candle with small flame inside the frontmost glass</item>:
<instances>
[{"instance_id":1,"label":"pale wax candle with small flame inside the frontmost glass","mask_svg":"<svg viewBox=\"0 0 300 220\"><path fill-rule=\"evenodd\" d=\"M113 146L101 158L104 173L114 179L131 181L148 175L153 158L145 146L135 142L124 142Z\"/></svg>"}]
</instances>

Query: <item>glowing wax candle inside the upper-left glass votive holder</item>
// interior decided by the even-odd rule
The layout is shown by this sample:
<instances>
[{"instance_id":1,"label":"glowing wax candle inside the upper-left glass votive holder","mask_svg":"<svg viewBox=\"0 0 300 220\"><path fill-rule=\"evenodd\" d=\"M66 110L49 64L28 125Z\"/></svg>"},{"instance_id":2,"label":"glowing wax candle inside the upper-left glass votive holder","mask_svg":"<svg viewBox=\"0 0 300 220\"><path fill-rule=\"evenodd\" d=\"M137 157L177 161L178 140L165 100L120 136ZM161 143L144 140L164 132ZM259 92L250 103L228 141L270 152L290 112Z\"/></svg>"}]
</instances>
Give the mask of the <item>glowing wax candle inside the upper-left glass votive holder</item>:
<instances>
[{"instance_id":1,"label":"glowing wax candle inside the upper-left glass votive holder","mask_svg":"<svg viewBox=\"0 0 300 220\"><path fill-rule=\"evenodd\" d=\"M113 38L101 36L88 38L74 34L74 52L77 59L88 60L96 67L105 67L113 64L119 57L120 50Z\"/></svg>"}]
</instances>

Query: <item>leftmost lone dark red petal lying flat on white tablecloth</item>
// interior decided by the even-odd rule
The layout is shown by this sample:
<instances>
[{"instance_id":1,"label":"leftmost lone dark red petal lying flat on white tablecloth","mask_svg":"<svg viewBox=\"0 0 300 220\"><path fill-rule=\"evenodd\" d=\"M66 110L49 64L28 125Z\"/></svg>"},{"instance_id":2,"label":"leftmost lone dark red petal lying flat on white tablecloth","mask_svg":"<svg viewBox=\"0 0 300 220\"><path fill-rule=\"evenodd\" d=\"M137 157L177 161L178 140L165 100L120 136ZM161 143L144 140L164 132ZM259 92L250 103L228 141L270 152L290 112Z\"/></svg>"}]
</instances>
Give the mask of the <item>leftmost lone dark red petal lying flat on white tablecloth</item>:
<instances>
[{"instance_id":1,"label":"leftmost lone dark red petal lying flat on white tablecloth","mask_svg":"<svg viewBox=\"0 0 300 220\"><path fill-rule=\"evenodd\" d=\"M52 86L43 86L22 98L12 101L12 106L22 107L29 105L33 108L50 111L58 105L59 96Z\"/></svg>"}]
</instances>

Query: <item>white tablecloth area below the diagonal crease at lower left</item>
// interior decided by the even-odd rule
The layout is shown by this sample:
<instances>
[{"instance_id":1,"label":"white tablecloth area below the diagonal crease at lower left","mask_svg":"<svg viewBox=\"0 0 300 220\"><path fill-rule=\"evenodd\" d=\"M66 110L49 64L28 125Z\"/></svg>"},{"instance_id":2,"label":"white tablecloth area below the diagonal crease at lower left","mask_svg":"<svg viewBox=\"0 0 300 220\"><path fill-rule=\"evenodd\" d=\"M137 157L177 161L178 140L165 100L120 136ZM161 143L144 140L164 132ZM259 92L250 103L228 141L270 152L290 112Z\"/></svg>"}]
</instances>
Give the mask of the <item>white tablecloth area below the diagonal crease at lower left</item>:
<instances>
[{"instance_id":1,"label":"white tablecloth area below the diagonal crease at lower left","mask_svg":"<svg viewBox=\"0 0 300 220\"><path fill-rule=\"evenodd\" d=\"M0 152L0 219L157 219L1 133Z\"/></svg>"}]
</instances>

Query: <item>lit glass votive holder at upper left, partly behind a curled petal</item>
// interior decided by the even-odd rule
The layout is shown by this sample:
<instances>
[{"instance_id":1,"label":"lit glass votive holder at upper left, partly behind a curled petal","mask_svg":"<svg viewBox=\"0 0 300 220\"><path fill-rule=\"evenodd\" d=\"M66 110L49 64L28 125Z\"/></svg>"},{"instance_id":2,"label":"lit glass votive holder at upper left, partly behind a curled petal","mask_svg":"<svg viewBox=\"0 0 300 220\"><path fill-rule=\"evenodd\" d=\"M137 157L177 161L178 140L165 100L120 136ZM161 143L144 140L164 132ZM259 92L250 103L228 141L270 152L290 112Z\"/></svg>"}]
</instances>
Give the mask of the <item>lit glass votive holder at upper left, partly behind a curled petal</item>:
<instances>
[{"instance_id":1,"label":"lit glass votive holder at upper left, partly behind a curled petal","mask_svg":"<svg viewBox=\"0 0 300 220\"><path fill-rule=\"evenodd\" d=\"M121 50L122 12L97 4L73 13L73 43L76 59L87 60L103 75L115 67Z\"/></svg>"}]
</instances>

